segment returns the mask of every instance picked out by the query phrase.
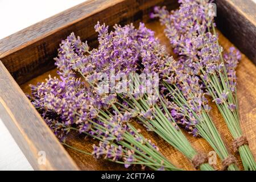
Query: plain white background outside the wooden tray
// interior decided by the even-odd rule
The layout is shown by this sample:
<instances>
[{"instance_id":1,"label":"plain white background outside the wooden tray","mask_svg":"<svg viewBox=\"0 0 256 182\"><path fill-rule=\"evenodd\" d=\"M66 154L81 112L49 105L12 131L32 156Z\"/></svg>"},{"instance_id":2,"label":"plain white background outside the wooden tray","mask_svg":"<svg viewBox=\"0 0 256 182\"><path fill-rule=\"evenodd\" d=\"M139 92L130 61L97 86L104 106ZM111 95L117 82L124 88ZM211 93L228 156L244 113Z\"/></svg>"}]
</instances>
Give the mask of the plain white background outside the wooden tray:
<instances>
[{"instance_id":1,"label":"plain white background outside the wooden tray","mask_svg":"<svg viewBox=\"0 0 256 182\"><path fill-rule=\"evenodd\" d=\"M87 0L0 0L0 39L84 1ZM0 144L0 170L32 170L1 115Z\"/></svg>"}]
</instances>

